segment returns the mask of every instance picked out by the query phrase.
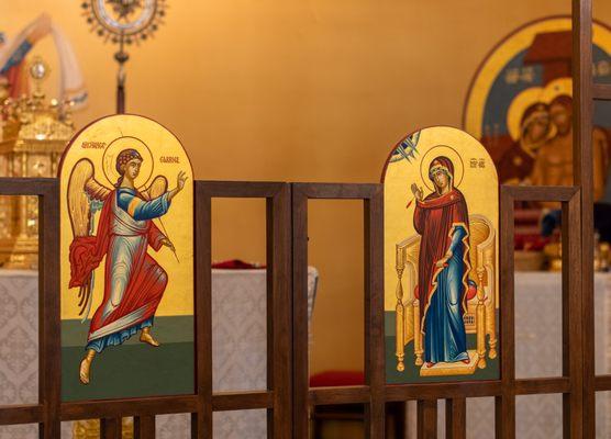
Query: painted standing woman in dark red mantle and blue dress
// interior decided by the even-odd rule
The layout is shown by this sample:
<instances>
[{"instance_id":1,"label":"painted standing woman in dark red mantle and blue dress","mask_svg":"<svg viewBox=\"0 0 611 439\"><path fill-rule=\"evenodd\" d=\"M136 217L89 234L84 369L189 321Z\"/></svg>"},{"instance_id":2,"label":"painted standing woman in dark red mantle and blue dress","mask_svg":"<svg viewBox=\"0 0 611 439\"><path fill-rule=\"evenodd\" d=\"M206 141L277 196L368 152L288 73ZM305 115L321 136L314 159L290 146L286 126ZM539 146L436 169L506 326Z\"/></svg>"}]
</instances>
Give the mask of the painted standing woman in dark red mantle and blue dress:
<instances>
[{"instance_id":1,"label":"painted standing woman in dark red mantle and blue dress","mask_svg":"<svg viewBox=\"0 0 611 439\"><path fill-rule=\"evenodd\" d=\"M440 156L431 161L434 191L416 199L413 225L421 235L416 295L420 300L424 361L469 362L463 316L469 264L469 219L463 193L454 187L454 165Z\"/></svg>"}]
</instances>

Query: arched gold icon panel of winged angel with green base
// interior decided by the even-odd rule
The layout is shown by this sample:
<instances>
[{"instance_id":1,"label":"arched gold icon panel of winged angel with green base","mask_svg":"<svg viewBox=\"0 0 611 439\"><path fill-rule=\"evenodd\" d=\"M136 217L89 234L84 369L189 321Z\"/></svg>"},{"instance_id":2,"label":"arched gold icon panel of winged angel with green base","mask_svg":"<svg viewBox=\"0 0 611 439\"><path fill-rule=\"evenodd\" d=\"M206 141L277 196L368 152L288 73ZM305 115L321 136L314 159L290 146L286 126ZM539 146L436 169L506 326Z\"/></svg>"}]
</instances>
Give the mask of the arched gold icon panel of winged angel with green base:
<instances>
[{"instance_id":1,"label":"arched gold icon panel of winged angel with green base","mask_svg":"<svg viewBox=\"0 0 611 439\"><path fill-rule=\"evenodd\" d=\"M59 170L64 401L193 392L193 178L165 127L101 119Z\"/></svg>"}]
</instances>

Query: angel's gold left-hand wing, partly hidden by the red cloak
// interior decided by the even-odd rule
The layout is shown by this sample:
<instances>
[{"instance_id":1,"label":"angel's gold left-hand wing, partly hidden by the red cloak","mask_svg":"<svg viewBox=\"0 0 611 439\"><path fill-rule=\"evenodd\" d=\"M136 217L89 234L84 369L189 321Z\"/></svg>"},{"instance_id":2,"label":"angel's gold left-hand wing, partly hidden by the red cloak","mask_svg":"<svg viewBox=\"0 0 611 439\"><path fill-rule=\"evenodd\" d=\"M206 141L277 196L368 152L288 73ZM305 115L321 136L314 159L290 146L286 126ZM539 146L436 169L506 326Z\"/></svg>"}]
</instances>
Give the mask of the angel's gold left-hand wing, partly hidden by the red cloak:
<instances>
[{"instance_id":1,"label":"angel's gold left-hand wing, partly hidden by the red cloak","mask_svg":"<svg viewBox=\"0 0 611 439\"><path fill-rule=\"evenodd\" d=\"M91 236L93 232L93 214L99 204L110 194L111 190L100 184L95 178L91 160L82 158L73 168L68 180L68 214L74 237ZM91 292L93 291L93 273L88 282L79 289L78 306L82 320L91 309Z\"/></svg>"}]
</instances>

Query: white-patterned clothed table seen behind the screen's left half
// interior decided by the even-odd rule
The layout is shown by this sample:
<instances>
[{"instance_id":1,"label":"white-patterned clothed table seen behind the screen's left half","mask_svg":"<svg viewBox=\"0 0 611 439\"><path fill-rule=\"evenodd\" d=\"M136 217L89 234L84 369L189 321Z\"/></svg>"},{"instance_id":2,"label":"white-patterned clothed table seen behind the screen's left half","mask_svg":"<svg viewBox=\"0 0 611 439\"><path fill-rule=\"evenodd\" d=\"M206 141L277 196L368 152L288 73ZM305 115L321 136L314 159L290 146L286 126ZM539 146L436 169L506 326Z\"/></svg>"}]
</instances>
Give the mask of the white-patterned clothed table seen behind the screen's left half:
<instances>
[{"instance_id":1,"label":"white-patterned clothed table seen behind the screen's left half","mask_svg":"<svg viewBox=\"0 0 611 439\"><path fill-rule=\"evenodd\" d=\"M318 277L316 269L310 267L310 315ZM37 281L34 271L0 270L0 405L37 403ZM212 270L214 392L266 389L266 289L264 269ZM157 438L190 438L190 415L159 415L156 417ZM266 425L265 409L215 413L214 437L265 438ZM0 427L0 439L37 437L35 425ZM73 423L62 423L62 437L74 438Z\"/></svg>"}]
</instances>

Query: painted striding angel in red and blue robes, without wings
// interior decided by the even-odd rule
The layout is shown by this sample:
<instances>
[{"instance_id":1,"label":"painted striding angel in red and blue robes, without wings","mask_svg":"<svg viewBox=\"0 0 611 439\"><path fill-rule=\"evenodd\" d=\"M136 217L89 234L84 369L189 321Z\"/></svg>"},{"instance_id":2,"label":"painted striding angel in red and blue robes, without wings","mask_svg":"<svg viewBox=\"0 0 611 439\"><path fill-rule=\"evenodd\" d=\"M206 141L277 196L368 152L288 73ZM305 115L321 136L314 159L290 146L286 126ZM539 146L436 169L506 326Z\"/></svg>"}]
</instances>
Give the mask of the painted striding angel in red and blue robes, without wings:
<instances>
[{"instance_id":1,"label":"painted striding angel in red and blue robes, without wings","mask_svg":"<svg viewBox=\"0 0 611 439\"><path fill-rule=\"evenodd\" d=\"M153 223L165 215L171 200L185 187L187 177L178 173L175 189L145 200L135 189L143 158L135 149L116 156L120 175L114 190L103 201L96 236L76 237L70 245L70 288L82 286L105 257L104 293L89 328L86 356L79 378L89 383L96 353L123 344L141 333L140 341L159 346L151 334L153 318L167 284L166 271L148 255L174 245Z\"/></svg>"}]
</instances>

